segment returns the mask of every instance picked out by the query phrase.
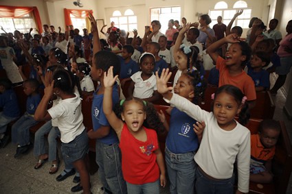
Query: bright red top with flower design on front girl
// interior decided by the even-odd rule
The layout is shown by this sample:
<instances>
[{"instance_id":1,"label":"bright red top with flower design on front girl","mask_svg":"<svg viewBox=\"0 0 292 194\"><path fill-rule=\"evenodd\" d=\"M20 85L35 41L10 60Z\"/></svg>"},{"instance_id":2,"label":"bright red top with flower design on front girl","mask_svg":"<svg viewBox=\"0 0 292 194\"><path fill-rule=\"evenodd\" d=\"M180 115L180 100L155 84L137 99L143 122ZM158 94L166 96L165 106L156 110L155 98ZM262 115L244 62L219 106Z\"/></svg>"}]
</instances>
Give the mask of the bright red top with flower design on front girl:
<instances>
[{"instance_id":1,"label":"bright red top with flower design on front girl","mask_svg":"<svg viewBox=\"0 0 292 194\"><path fill-rule=\"evenodd\" d=\"M129 132L126 123L122 129L120 149L124 180L131 184L146 184L159 179L159 167L154 151L159 148L155 130L144 128L147 141L137 140Z\"/></svg>"}]
</instances>

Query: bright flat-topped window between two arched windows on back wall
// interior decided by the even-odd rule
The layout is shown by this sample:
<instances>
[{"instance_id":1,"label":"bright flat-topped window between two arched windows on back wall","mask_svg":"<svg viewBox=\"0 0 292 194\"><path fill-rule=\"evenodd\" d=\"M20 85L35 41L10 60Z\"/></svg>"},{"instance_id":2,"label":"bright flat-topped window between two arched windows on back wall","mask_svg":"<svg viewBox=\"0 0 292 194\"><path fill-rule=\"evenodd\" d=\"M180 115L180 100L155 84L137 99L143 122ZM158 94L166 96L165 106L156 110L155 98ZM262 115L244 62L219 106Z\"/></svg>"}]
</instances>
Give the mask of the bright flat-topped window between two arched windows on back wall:
<instances>
[{"instance_id":1,"label":"bright flat-topped window between two arched windows on back wall","mask_svg":"<svg viewBox=\"0 0 292 194\"><path fill-rule=\"evenodd\" d=\"M158 20L161 23L161 33L165 34L166 29L168 29L168 21L181 20L181 7L168 7L168 8L151 8L150 9L150 19Z\"/></svg>"}]
</instances>

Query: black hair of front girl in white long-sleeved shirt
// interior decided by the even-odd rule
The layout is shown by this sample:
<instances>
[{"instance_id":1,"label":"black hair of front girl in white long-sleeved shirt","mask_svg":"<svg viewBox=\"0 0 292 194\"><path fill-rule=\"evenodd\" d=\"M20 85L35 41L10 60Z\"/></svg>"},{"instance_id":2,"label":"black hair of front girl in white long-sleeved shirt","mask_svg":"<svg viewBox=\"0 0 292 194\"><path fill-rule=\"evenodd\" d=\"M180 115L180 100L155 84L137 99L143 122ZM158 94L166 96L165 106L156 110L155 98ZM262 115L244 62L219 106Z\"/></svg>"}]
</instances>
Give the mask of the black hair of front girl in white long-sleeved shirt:
<instances>
[{"instance_id":1,"label":"black hair of front girl in white long-sleeved shirt","mask_svg":"<svg viewBox=\"0 0 292 194\"><path fill-rule=\"evenodd\" d=\"M245 104L242 104L243 97L245 97L245 95L241 92L241 90L238 87L232 86L232 85L223 85L219 87L216 90L214 99L216 99L216 96L220 93L227 93L229 95L232 95L235 101L237 102L238 107L242 105L241 111L238 114L238 121L241 125L245 125L249 121L249 116L250 116L249 106L247 104L247 101L245 101ZM212 111L213 111L213 107L212 107Z\"/></svg>"}]
</instances>

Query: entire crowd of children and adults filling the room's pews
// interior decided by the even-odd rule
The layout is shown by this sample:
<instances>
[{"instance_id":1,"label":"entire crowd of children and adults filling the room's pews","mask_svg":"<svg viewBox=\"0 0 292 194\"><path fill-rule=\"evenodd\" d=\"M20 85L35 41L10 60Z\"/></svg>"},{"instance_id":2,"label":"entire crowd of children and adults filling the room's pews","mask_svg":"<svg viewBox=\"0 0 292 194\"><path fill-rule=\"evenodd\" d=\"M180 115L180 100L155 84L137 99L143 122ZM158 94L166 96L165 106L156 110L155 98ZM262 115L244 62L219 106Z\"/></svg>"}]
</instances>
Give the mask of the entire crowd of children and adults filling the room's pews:
<instances>
[{"instance_id":1,"label":"entire crowd of children and adults filling the room's pews","mask_svg":"<svg viewBox=\"0 0 292 194\"><path fill-rule=\"evenodd\" d=\"M72 192L91 193L94 186L85 157L89 138L96 140L104 193L159 193L167 176L170 193L234 193L235 179L236 193L247 193L249 180L271 182L280 126L264 120L259 134L250 135L245 124L256 104L256 92L270 88L269 73L279 75L273 94L286 80L292 66L292 21L281 40L278 20L271 20L264 32L264 23L254 19L245 42L240 39L241 27L231 29L242 13L234 14L220 36L208 26L207 14L200 16L199 23L186 23L183 18L182 26L171 19L165 35L160 32L161 23L152 21L143 38L136 29L133 38L123 36L111 23L106 33L102 32L106 25L100 29L106 36L100 40L91 14L91 33L83 29L84 36L72 26L65 33L60 27L55 32L53 25L43 25L45 32L33 37L32 29L24 36L17 30L14 35L5 32L0 36L0 67L7 75L0 80L1 147L9 143L6 129L14 121L14 157L34 146L38 158L34 169L49 160L49 173L54 174L60 162L59 137L65 169L56 180L77 172L74 182L78 184ZM218 17L219 25L221 20ZM30 66L29 74L24 72L25 63ZM218 86L212 95L212 112L198 106L207 87L205 69L211 69L208 83ZM18 84L23 84L27 95L23 115L13 89ZM119 85L126 88L126 99ZM82 123L83 117L89 117L81 112L83 96L92 100L93 129ZM153 106L162 97L171 105L166 110L170 123ZM30 128L38 121L46 123L32 143ZM157 138L164 131L168 133L165 161Z\"/></svg>"}]
</instances>

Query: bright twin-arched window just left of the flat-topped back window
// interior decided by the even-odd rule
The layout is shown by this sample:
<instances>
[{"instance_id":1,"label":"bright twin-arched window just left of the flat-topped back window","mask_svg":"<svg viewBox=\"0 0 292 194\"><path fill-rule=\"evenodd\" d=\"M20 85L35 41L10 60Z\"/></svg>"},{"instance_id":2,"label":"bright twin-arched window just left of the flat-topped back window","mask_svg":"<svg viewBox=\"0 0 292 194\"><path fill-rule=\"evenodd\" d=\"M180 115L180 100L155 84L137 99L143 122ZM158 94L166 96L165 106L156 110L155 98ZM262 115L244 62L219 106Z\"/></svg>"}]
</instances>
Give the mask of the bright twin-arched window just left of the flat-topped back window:
<instances>
[{"instance_id":1,"label":"bright twin-arched window just left of the flat-topped back window","mask_svg":"<svg viewBox=\"0 0 292 194\"><path fill-rule=\"evenodd\" d=\"M124 16L121 12L115 10L113 16L111 17L111 22L115 23L115 27L124 29L126 32L131 32L133 29L137 29L137 16L135 16L133 10L126 10Z\"/></svg>"}]
</instances>

